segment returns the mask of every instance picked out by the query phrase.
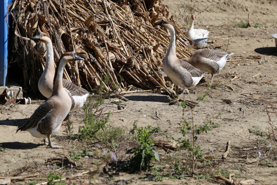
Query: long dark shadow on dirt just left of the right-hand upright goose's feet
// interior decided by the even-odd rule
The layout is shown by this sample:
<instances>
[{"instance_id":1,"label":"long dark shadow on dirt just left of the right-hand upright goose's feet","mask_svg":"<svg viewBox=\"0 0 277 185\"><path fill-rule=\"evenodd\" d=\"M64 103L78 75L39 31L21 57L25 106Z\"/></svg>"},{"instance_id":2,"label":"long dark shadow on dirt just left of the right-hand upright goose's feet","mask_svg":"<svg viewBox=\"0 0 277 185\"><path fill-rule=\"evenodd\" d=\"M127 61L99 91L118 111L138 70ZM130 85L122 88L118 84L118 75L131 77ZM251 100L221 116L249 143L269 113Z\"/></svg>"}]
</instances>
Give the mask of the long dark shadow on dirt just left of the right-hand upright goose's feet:
<instances>
[{"instance_id":1,"label":"long dark shadow on dirt just left of the right-hand upright goose's feet","mask_svg":"<svg viewBox=\"0 0 277 185\"><path fill-rule=\"evenodd\" d=\"M163 102L163 103L169 103L168 96L138 96L138 95L131 95L131 96L125 96L128 100L131 101L143 101L143 102Z\"/></svg>"}]
</instances>

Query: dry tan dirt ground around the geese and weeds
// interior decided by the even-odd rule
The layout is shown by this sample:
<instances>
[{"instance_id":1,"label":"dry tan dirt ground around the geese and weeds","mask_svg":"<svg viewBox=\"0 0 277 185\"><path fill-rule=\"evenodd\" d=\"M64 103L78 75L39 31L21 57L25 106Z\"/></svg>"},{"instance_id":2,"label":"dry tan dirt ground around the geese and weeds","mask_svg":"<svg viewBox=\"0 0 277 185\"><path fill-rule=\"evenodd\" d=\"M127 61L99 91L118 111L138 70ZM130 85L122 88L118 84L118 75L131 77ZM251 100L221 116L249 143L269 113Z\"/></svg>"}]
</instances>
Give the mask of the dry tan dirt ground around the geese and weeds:
<instances>
[{"instance_id":1,"label":"dry tan dirt ground around the geese and weeds","mask_svg":"<svg viewBox=\"0 0 277 185\"><path fill-rule=\"evenodd\" d=\"M277 2L262 1L186 1L186 12L182 8L183 1L164 2L177 18L177 23L184 31L188 28L186 17L196 15L195 28L205 28L209 33L209 48L228 50L234 54L229 59L224 69L214 76L216 88L208 90L205 84L197 85L195 94L185 95L186 100L196 101L197 97L207 94L206 102L201 102L193 109L193 121L196 125L212 121L217 127L198 136L199 144L205 156L212 155L210 165L202 169L210 176L206 178L189 177L185 179L171 179L164 177L163 181L155 182L151 172L128 174L121 172L109 179L109 175L100 172L96 180L100 184L223 184L215 179L215 175L224 172L234 173L236 182L254 180L253 184L277 184L277 143L273 140L272 125L276 126L277 107L277 48L272 33L277 32ZM247 21L258 26L248 28L233 27L241 21ZM184 17L185 18L181 18ZM227 44L229 45L227 46ZM210 75L204 79L209 81ZM166 140L170 135L174 138L181 137L180 121L182 120L182 107L177 104L169 105L169 98L162 93L132 93L124 95L129 101L120 100L124 110L112 113L109 123L113 126L124 128L129 132L136 121L138 126L151 125L160 127L168 134L153 135L153 139ZM113 98L106 103L118 101ZM19 124L29 118L43 100L35 100L30 105L6 104L0 106L0 176L13 177L39 173L37 177L46 177L51 162L49 159L59 156L68 156L75 150L87 148L94 152L91 145L78 141L65 139L65 127L61 127L54 142L64 145L64 149L49 149L43 145L41 139L33 138L27 132L15 133ZM105 111L116 112L117 105L110 103ZM191 121L191 112L188 108L185 117ZM219 113L221 116L218 116ZM71 115L74 132L82 125L84 114L78 110ZM271 124L270 124L271 123ZM259 134L260 133L260 134ZM262 134L261 134L262 133ZM270 133L270 135L269 135ZM264 134L264 135L263 135ZM227 159L222 160L227 141L231 142L231 152ZM127 142L127 141L126 141ZM124 145L122 143L122 145ZM131 146L118 146L115 152L117 160L124 160L125 153ZM168 161L169 155L176 155L178 151L166 151L157 147L162 168L169 169L174 161ZM180 152L181 153L181 152ZM166 160L167 159L167 160ZM82 159L85 168L65 168L52 170L63 176L72 176L87 170L97 170L98 166L92 164L94 159ZM101 160L101 158L99 159ZM187 160L184 156L183 160ZM103 161L103 159L102 159ZM183 161L186 163L188 161ZM105 163L103 162L105 165ZM163 170L159 171L163 174ZM150 174L150 175L149 175ZM89 177L93 175L89 174ZM153 176L153 173L152 173ZM87 184L88 176L75 178L76 184ZM1 179L0 179L1 181ZM26 179L12 180L11 184L27 184L27 182L45 182ZM71 181L65 181L71 184ZM95 182L95 181L94 181Z\"/></svg>"}]
</instances>

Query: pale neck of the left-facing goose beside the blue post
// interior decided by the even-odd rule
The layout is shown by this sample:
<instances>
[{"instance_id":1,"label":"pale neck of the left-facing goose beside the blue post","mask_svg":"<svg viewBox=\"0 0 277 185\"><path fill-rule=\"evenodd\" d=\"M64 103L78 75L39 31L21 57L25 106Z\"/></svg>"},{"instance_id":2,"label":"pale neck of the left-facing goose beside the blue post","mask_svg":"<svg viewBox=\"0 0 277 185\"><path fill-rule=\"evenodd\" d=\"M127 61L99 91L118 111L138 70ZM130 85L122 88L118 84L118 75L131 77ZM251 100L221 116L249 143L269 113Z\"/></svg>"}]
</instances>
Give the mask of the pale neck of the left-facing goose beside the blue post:
<instances>
[{"instance_id":1,"label":"pale neck of the left-facing goose beside the blue post","mask_svg":"<svg viewBox=\"0 0 277 185\"><path fill-rule=\"evenodd\" d=\"M46 62L45 62L45 69L44 72L47 73L48 71L55 71L54 65L54 51L53 51L53 44L50 38L47 38L46 45Z\"/></svg>"}]
</instances>

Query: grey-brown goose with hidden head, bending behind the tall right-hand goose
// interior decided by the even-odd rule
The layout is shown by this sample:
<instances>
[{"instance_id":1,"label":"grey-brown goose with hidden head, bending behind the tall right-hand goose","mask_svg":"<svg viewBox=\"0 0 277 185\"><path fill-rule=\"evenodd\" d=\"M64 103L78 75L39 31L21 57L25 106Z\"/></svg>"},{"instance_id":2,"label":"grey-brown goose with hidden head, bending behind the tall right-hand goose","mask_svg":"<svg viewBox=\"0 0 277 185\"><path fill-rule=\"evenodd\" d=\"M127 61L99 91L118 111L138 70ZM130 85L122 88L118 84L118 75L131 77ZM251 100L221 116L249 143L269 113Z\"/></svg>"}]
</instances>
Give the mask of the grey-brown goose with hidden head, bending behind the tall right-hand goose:
<instances>
[{"instance_id":1,"label":"grey-brown goose with hidden head, bending behind the tall right-hand goose","mask_svg":"<svg viewBox=\"0 0 277 185\"><path fill-rule=\"evenodd\" d=\"M199 49L196 50L190 57L182 58L182 60L190 63L194 67L205 70L211 73L211 83L213 82L214 73L223 69L226 60L234 53L214 50L214 49Z\"/></svg>"}]
</instances>

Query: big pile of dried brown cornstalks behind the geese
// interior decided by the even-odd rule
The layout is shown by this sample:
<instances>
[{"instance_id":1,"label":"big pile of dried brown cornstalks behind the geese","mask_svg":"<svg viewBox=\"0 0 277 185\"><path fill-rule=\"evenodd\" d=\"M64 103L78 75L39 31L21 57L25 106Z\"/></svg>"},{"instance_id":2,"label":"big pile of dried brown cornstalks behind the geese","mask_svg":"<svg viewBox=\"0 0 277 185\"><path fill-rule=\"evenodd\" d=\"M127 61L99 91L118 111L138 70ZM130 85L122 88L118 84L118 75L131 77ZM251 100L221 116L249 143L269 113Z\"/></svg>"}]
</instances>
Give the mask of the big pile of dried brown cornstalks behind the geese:
<instances>
[{"instance_id":1,"label":"big pile of dried brown cornstalks behind the geese","mask_svg":"<svg viewBox=\"0 0 277 185\"><path fill-rule=\"evenodd\" d=\"M68 64L65 78L88 90L109 76L106 90L116 85L124 91L133 85L163 88L172 95L160 73L170 37L153 26L162 18L170 20L161 0L14 0L10 14L13 52L24 71L25 87L37 89L45 65L45 45L20 36L30 38L41 30L52 39L55 61L72 50L87 58ZM177 31L177 55L188 57L185 36Z\"/></svg>"}]
</instances>

